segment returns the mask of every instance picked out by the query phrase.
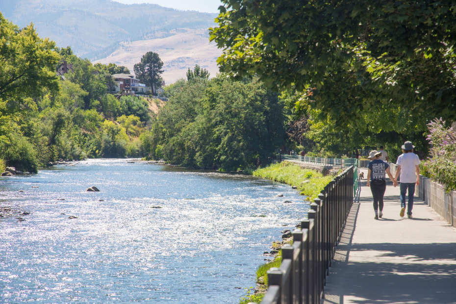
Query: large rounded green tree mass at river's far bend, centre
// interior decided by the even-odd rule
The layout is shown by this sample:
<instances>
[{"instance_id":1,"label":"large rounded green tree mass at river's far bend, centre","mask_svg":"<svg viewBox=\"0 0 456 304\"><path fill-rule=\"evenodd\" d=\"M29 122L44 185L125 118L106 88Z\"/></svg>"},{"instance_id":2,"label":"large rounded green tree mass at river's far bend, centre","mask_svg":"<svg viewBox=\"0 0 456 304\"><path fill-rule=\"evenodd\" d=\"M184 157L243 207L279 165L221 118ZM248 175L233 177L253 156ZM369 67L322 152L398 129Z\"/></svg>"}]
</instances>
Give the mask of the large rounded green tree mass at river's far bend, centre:
<instances>
[{"instance_id":1,"label":"large rounded green tree mass at river's far bend, centre","mask_svg":"<svg viewBox=\"0 0 456 304\"><path fill-rule=\"evenodd\" d=\"M148 157L234 171L266 164L284 144L286 110L261 81L180 79L166 93L152 131L141 136Z\"/></svg>"}]
</instances>

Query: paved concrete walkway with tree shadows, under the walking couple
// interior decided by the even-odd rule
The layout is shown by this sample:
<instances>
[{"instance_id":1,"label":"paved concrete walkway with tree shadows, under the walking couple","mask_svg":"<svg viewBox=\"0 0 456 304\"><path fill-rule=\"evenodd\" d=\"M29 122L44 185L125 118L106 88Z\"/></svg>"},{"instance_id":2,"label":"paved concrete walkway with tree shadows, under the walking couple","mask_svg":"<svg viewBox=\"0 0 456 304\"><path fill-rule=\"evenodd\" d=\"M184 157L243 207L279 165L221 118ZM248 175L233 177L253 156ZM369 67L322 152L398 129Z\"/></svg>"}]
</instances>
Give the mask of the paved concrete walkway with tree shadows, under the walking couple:
<instances>
[{"instance_id":1,"label":"paved concrete walkway with tree shadows, under the walking couple","mask_svg":"<svg viewBox=\"0 0 456 304\"><path fill-rule=\"evenodd\" d=\"M387 180L379 220L362 180L322 304L456 304L456 229L416 197L413 219L401 218L399 187Z\"/></svg>"}]
</instances>

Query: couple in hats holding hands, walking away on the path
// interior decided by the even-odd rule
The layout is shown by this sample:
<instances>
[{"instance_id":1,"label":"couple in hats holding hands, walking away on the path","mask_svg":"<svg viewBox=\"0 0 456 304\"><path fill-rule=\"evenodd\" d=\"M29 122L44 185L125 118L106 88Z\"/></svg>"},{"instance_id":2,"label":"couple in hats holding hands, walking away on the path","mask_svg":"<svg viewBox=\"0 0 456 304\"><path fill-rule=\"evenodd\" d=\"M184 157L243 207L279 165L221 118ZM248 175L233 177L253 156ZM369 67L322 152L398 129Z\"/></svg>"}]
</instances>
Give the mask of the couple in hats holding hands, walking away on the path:
<instances>
[{"instance_id":1,"label":"couple in hats holding hands, walking away on the path","mask_svg":"<svg viewBox=\"0 0 456 304\"><path fill-rule=\"evenodd\" d=\"M408 191L408 202L407 202L407 216L412 218L413 209L413 196L415 194L415 184L420 184L420 159L413 153L415 148L410 141L406 141L402 146L402 154L399 155L396 165L396 175L393 177L389 170L389 164L381 160L382 152L373 150L369 153L368 159L371 160L367 172L367 186L371 188L372 197L374 199L374 211L375 219L383 216L383 196L386 190L386 178L385 173L389 179L393 182L394 187L398 185L398 177L400 177L401 185L401 212L400 216L405 215L405 194ZM379 211L380 209L380 211Z\"/></svg>"}]
</instances>

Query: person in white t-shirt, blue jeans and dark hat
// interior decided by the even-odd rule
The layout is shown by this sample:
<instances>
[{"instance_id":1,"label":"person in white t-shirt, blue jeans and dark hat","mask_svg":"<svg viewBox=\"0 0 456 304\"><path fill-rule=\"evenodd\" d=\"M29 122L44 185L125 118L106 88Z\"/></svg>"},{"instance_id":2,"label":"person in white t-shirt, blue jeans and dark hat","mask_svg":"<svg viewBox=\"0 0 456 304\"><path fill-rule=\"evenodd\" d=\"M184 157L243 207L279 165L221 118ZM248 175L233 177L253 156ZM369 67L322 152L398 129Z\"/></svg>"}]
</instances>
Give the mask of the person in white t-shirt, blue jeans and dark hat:
<instances>
[{"instance_id":1,"label":"person in white t-shirt, blue jeans and dark hat","mask_svg":"<svg viewBox=\"0 0 456 304\"><path fill-rule=\"evenodd\" d=\"M408 190L408 203L407 203L407 216L412 218L413 209L413 196L415 195L415 184L420 184L420 159L418 155L413 153L415 148L410 141L406 141L402 146L402 154L399 155L396 165L395 180L397 182L398 177L401 181L401 213L403 217L405 214L405 193Z\"/></svg>"}]
</instances>

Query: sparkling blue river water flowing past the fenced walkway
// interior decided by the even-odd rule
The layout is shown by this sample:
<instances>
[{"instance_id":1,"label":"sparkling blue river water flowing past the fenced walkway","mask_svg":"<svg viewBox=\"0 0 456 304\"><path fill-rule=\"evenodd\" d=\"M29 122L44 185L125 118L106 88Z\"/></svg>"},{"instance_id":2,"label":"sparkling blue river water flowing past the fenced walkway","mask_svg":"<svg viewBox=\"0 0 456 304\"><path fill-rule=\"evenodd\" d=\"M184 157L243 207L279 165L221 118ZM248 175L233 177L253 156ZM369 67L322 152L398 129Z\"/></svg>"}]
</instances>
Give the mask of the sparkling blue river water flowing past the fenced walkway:
<instances>
[{"instance_id":1,"label":"sparkling blue river water flowing past the fenced walkway","mask_svg":"<svg viewBox=\"0 0 456 304\"><path fill-rule=\"evenodd\" d=\"M0 177L0 206L0 303L237 304L309 209L284 184L125 159Z\"/></svg>"}]
</instances>

